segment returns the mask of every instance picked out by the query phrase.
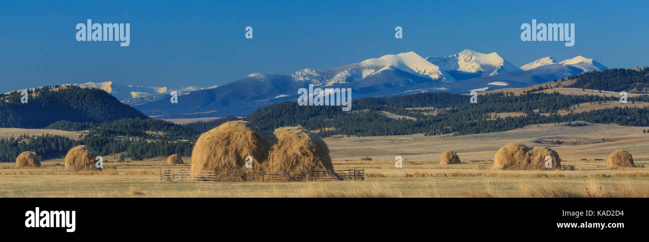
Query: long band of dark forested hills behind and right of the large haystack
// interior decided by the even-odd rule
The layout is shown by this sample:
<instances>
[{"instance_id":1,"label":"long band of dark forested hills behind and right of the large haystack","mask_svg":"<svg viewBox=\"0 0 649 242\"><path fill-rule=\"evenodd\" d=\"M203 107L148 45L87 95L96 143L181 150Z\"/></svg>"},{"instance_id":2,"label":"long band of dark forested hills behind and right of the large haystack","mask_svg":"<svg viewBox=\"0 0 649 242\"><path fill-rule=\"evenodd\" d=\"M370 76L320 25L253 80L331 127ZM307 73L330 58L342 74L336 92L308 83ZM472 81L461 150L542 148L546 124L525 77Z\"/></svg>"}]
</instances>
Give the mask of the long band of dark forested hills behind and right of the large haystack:
<instances>
[{"instance_id":1,"label":"long band of dark forested hills behind and right of the large haystack","mask_svg":"<svg viewBox=\"0 0 649 242\"><path fill-rule=\"evenodd\" d=\"M424 133L473 134L506 131L531 124L582 120L600 124L649 126L649 107L634 107L649 102L649 96L628 98L628 107L574 112L580 105L619 102L615 97L530 93L495 93L478 96L448 93L421 93L392 98L354 100L352 111L339 106L300 106L283 102L258 109L246 120L263 130L282 126L302 126L323 137L332 135L380 136ZM640 103L639 103L640 104ZM390 118L386 113L406 118ZM515 116L499 116L517 113Z\"/></svg>"}]
</instances>

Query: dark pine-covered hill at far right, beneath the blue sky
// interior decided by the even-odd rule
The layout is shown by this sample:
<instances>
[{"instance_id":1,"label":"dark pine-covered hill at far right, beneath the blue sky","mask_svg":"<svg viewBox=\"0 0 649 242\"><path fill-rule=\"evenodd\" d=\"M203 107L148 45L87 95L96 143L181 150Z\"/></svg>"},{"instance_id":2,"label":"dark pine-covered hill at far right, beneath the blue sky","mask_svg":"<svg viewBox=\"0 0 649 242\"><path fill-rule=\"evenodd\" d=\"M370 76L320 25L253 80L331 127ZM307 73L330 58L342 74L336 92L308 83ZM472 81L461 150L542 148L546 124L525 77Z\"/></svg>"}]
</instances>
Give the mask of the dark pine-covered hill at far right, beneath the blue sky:
<instances>
[{"instance_id":1,"label":"dark pine-covered hill at far right, beneath the blue sky","mask_svg":"<svg viewBox=\"0 0 649 242\"><path fill-rule=\"evenodd\" d=\"M626 91L627 93L649 93L649 67L585 72L567 78L568 82L571 80L574 83L566 87L616 92Z\"/></svg>"}]
</instances>

